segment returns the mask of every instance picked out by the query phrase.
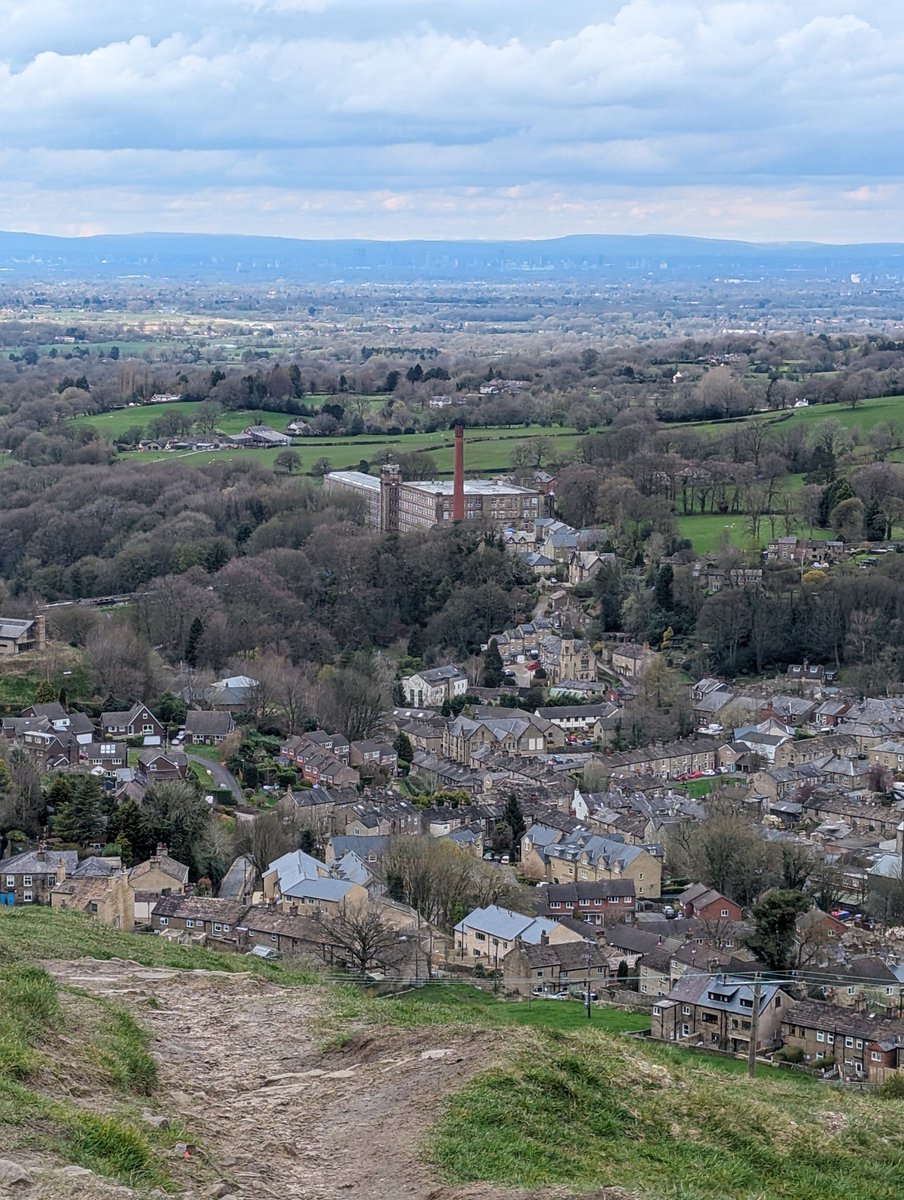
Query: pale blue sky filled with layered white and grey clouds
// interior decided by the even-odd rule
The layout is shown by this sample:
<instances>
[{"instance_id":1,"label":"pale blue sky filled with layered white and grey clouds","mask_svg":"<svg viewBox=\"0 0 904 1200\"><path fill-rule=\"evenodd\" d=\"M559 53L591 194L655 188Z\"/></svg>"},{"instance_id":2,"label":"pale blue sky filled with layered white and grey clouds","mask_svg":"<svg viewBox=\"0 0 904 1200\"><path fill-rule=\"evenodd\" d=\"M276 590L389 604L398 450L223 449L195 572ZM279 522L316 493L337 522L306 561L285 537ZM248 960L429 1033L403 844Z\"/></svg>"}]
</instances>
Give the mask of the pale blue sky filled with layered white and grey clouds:
<instances>
[{"instance_id":1,"label":"pale blue sky filled with layered white and grey clouds","mask_svg":"<svg viewBox=\"0 0 904 1200\"><path fill-rule=\"evenodd\" d=\"M0 0L0 229L904 240L888 0Z\"/></svg>"}]
</instances>

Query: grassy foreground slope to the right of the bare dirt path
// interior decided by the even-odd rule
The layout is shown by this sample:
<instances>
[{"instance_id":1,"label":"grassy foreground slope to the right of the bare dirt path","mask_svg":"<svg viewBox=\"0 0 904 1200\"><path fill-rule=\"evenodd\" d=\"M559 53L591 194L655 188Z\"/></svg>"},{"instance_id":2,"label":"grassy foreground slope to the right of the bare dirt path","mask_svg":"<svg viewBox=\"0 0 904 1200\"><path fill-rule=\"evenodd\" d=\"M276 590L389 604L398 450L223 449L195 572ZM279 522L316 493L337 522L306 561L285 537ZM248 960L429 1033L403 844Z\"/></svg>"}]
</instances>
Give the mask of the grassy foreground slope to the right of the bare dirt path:
<instances>
[{"instance_id":1,"label":"grassy foreground slope to the right of the bare dirt path","mask_svg":"<svg viewBox=\"0 0 904 1200\"><path fill-rule=\"evenodd\" d=\"M510 1062L447 1100L426 1148L448 1182L611 1186L649 1200L898 1194L903 1102L790 1073L750 1082L599 1031L522 1038Z\"/></svg>"}]
</instances>

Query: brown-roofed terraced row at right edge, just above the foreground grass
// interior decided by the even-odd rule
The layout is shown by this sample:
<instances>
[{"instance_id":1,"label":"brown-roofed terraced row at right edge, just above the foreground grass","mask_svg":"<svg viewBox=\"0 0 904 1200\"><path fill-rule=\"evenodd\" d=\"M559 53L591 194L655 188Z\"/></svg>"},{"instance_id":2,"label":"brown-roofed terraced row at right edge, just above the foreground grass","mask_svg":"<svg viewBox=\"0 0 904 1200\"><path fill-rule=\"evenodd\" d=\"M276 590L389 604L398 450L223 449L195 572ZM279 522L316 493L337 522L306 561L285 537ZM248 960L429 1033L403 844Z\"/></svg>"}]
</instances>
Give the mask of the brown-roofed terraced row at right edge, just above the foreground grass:
<instances>
[{"instance_id":1,"label":"brown-roofed terraced row at right edge, just above the foreground grass","mask_svg":"<svg viewBox=\"0 0 904 1200\"><path fill-rule=\"evenodd\" d=\"M815 1000L791 1004L783 1015L782 1039L803 1051L804 1062L838 1068L844 1079L882 1082L904 1064L904 1021L851 1012Z\"/></svg>"}]
</instances>

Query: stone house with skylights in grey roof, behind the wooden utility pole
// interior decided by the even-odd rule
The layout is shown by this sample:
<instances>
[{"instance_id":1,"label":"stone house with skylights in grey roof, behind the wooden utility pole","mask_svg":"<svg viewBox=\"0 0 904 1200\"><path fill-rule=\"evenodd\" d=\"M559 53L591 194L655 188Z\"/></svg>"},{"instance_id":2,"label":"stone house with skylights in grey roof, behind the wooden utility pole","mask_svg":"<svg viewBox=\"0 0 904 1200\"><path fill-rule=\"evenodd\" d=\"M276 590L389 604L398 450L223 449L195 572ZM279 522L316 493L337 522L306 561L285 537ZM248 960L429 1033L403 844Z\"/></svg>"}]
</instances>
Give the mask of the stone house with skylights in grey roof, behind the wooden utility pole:
<instances>
[{"instance_id":1,"label":"stone house with skylights in grey roof, behind the wooden utility pole","mask_svg":"<svg viewBox=\"0 0 904 1200\"><path fill-rule=\"evenodd\" d=\"M660 1042L687 1042L747 1054L754 1004L756 1052L772 1050L782 1038L788 996L776 983L755 985L732 976L683 976L664 1000L653 1004L651 1036Z\"/></svg>"}]
</instances>

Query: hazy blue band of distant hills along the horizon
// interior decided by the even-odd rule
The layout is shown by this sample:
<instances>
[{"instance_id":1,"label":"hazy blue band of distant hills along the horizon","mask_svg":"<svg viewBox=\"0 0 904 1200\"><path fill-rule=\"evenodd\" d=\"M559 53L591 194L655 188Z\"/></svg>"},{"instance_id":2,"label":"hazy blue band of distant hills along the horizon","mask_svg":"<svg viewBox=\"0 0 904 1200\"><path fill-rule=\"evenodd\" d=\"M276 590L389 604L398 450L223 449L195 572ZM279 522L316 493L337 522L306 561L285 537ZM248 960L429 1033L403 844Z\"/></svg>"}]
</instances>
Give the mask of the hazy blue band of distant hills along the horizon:
<instances>
[{"instance_id":1,"label":"hazy blue band of distant hills along the horizon","mask_svg":"<svg viewBox=\"0 0 904 1200\"><path fill-rule=\"evenodd\" d=\"M0 232L7 278L152 278L301 283L535 278L809 278L904 271L904 245L720 241L581 234L541 241L313 241L227 234L49 238Z\"/></svg>"}]
</instances>

